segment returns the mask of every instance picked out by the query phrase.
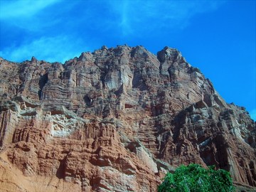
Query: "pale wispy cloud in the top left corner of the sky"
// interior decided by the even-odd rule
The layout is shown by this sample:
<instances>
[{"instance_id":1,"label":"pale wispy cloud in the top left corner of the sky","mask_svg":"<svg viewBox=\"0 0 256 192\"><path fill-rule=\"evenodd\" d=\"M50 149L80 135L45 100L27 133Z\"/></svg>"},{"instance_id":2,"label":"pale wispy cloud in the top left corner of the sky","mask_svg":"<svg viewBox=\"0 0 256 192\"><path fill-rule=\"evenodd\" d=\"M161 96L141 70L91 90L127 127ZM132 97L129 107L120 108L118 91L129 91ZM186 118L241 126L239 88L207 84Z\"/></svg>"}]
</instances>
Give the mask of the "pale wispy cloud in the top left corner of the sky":
<instances>
[{"instance_id":1,"label":"pale wispy cloud in the top left corner of the sky","mask_svg":"<svg viewBox=\"0 0 256 192\"><path fill-rule=\"evenodd\" d=\"M1 1L0 19L28 18L38 13L47 6L57 3L60 0L16 0Z\"/></svg>"}]
</instances>

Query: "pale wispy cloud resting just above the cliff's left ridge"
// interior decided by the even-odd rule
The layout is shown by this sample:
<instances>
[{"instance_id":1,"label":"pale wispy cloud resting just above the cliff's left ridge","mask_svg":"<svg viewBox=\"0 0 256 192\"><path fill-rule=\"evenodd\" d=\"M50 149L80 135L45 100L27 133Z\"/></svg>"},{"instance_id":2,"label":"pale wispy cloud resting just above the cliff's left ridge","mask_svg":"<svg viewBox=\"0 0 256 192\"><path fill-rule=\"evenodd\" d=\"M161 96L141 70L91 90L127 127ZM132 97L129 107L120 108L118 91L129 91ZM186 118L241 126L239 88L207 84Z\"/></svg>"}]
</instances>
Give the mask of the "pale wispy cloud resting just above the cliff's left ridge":
<instances>
[{"instance_id":1,"label":"pale wispy cloud resting just above the cliff's left ridge","mask_svg":"<svg viewBox=\"0 0 256 192\"><path fill-rule=\"evenodd\" d=\"M65 60L79 56L83 51L79 50L81 47L81 41L78 38L69 36L41 37L18 47L5 48L0 51L0 55L7 60L16 62L30 60L32 56L35 56L38 60L64 63ZM88 50L88 48L83 49Z\"/></svg>"}]
</instances>

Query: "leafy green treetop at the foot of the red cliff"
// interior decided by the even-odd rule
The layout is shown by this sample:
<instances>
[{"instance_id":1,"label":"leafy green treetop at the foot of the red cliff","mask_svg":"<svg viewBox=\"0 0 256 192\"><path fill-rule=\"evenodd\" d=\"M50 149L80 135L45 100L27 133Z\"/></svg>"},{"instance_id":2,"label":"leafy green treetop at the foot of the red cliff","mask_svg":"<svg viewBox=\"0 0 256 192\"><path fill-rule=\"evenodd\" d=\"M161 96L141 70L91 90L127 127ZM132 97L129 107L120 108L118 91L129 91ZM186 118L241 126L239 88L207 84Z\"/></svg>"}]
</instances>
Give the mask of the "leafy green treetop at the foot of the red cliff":
<instances>
[{"instance_id":1,"label":"leafy green treetop at the foot of the red cliff","mask_svg":"<svg viewBox=\"0 0 256 192\"><path fill-rule=\"evenodd\" d=\"M198 164L179 166L174 174L166 174L158 192L231 192L234 191L228 171L204 169Z\"/></svg>"}]
</instances>

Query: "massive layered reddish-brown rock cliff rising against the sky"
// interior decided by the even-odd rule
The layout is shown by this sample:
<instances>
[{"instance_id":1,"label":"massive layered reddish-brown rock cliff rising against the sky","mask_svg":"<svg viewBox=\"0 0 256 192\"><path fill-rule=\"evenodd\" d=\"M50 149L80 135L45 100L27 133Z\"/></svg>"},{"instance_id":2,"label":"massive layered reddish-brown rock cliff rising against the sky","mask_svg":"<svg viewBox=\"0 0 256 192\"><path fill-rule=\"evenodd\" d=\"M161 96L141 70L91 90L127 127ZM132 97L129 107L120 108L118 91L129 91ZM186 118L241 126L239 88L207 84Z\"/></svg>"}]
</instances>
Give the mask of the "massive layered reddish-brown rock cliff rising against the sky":
<instances>
[{"instance_id":1,"label":"massive layered reddish-brown rock cliff rising against the sky","mask_svg":"<svg viewBox=\"0 0 256 192\"><path fill-rule=\"evenodd\" d=\"M156 191L190 163L256 186L255 122L174 48L0 58L0 75L2 191Z\"/></svg>"}]
</instances>

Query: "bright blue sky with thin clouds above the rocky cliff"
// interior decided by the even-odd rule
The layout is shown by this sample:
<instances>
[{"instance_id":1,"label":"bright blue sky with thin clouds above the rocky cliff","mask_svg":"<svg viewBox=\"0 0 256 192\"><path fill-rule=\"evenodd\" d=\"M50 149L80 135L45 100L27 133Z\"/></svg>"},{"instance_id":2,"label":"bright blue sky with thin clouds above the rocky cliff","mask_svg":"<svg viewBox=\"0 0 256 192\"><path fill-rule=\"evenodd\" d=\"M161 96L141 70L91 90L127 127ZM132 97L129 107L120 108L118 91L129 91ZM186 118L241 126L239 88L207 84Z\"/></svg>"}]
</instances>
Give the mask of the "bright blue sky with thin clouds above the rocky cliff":
<instances>
[{"instance_id":1,"label":"bright blue sky with thin clouds above the rocky cliff","mask_svg":"<svg viewBox=\"0 0 256 192\"><path fill-rule=\"evenodd\" d=\"M0 56L50 62L102 45L178 48L256 120L255 1L0 0Z\"/></svg>"}]
</instances>

